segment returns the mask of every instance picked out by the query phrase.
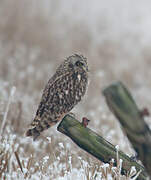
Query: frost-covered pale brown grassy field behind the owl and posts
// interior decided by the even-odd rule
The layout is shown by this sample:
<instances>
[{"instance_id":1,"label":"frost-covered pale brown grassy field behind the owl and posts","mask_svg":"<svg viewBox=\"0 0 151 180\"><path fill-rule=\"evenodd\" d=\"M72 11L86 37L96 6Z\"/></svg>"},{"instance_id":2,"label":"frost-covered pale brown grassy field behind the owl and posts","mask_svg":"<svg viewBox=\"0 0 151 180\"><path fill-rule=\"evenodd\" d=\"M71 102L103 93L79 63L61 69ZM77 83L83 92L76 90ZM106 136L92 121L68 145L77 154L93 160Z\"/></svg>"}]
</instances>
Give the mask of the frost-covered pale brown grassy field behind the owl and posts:
<instances>
[{"instance_id":1,"label":"frost-covered pale brown grassy field behind the owl and posts","mask_svg":"<svg viewBox=\"0 0 151 180\"><path fill-rule=\"evenodd\" d=\"M73 53L88 58L90 83L72 112L79 120L91 119L91 129L134 154L101 90L121 80L140 108L151 109L150 6L149 0L0 1L0 178L98 180L104 168L111 169L56 126L36 142L25 137L44 85ZM151 125L150 118L146 121Z\"/></svg>"}]
</instances>

